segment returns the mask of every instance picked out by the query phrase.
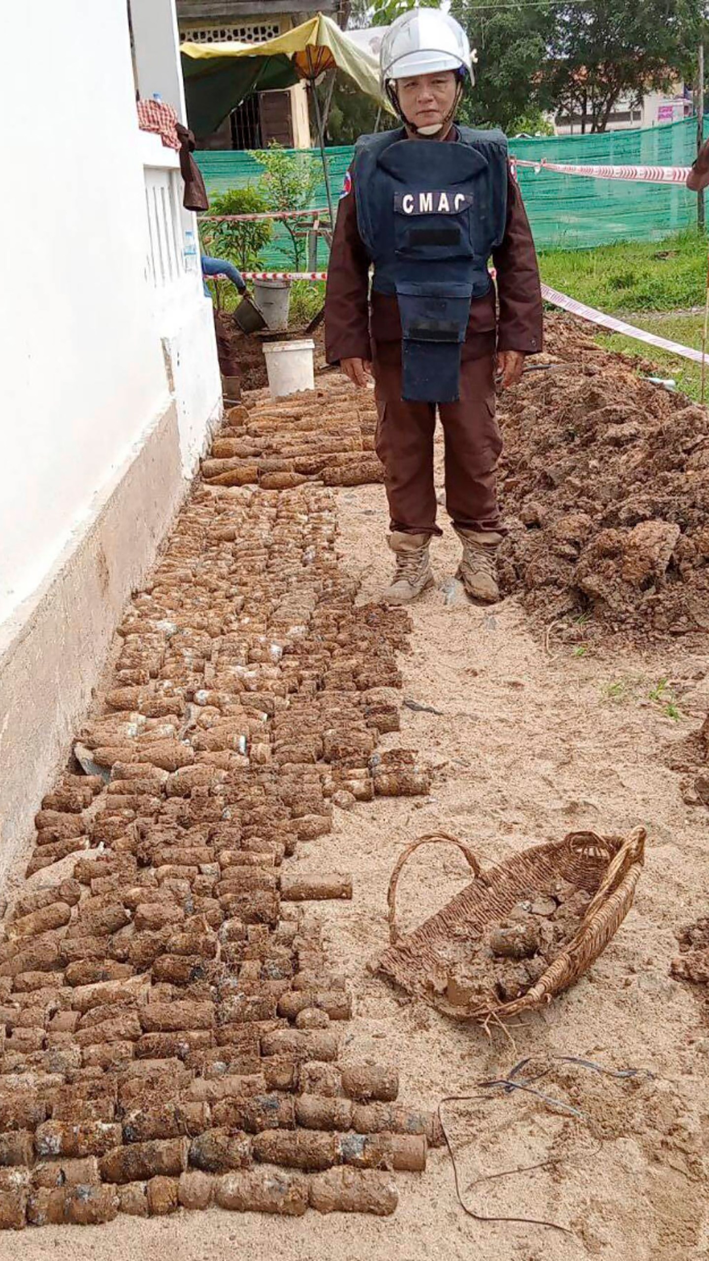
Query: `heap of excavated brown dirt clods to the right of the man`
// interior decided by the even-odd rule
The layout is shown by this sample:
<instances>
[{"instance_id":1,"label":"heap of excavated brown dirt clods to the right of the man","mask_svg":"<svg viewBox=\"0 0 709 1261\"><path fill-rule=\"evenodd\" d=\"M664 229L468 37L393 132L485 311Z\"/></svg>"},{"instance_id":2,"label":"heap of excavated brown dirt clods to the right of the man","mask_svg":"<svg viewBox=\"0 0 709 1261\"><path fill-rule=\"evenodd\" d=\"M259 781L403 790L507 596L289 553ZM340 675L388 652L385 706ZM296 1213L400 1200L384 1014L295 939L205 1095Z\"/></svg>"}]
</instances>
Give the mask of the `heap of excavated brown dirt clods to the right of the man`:
<instances>
[{"instance_id":1,"label":"heap of excavated brown dirt clods to the right of the man","mask_svg":"<svg viewBox=\"0 0 709 1261\"><path fill-rule=\"evenodd\" d=\"M606 632L706 630L706 409L638 380L566 317L548 317L546 348L568 367L501 400L505 590L545 623L590 610Z\"/></svg>"}]
</instances>

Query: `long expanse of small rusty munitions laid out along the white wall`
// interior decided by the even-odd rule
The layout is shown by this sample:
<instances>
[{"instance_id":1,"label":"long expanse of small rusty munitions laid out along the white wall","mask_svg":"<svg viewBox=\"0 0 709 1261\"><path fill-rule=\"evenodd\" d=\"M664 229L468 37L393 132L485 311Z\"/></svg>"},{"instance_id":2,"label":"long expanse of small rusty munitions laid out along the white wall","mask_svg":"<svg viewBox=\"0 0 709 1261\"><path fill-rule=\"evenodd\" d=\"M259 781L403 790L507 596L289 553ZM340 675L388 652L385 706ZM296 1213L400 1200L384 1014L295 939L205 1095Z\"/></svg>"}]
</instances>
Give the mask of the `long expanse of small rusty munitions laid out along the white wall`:
<instances>
[{"instance_id":1,"label":"long expanse of small rusty munitions laid out along the white wall","mask_svg":"<svg viewBox=\"0 0 709 1261\"><path fill-rule=\"evenodd\" d=\"M289 861L333 803L430 784L376 752L409 620L356 608L336 533L322 484L199 483L131 601L3 924L0 1227L390 1213L425 1165L396 1071L339 1059L351 996L303 903L351 880Z\"/></svg>"}]
</instances>

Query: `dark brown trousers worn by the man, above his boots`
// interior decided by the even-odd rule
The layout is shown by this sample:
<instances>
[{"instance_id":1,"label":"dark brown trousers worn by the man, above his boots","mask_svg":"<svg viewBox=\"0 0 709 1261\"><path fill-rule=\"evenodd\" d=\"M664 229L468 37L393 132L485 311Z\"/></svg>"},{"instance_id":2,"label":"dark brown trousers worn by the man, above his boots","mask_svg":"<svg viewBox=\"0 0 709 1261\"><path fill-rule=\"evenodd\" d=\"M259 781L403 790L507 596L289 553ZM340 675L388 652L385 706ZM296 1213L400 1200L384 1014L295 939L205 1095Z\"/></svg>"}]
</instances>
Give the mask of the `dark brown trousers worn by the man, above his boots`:
<instances>
[{"instance_id":1,"label":"dark brown trousers worn by the man, above his boots","mask_svg":"<svg viewBox=\"0 0 709 1261\"><path fill-rule=\"evenodd\" d=\"M433 479L435 405L401 400L401 369L394 357L380 359L375 353L373 375L376 451L385 468L391 530L440 535ZM495 419L492 354L463 361L460 400L439 404L438 412L445 441L448 514L466 530L502 531L496 493L502 436Z\"/></svg>"}]
</instances>

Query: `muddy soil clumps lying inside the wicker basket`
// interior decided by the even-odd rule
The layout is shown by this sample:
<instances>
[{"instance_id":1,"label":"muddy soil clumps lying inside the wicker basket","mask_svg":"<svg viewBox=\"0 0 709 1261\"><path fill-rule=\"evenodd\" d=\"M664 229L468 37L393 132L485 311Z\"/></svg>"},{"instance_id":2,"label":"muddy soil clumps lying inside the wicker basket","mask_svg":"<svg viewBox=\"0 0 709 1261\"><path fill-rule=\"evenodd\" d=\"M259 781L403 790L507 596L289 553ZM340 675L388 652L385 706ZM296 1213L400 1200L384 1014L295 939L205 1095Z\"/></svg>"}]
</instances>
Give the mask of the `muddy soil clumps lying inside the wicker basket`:
<instances>
[{"instance_id":1,"label":"muddy soil clumps lying inside the wicker basket","mask_svg":"<svg viewBox=\"0 0 709 1261\"><path fill-rule=\"evenodd\" d=\"M437 984L448 1002L474 1010L521 997L546 972L579 929L590 894L558 879L519 902L478 938L462 927L438 952Z\"/></svg>"}]
</instances>

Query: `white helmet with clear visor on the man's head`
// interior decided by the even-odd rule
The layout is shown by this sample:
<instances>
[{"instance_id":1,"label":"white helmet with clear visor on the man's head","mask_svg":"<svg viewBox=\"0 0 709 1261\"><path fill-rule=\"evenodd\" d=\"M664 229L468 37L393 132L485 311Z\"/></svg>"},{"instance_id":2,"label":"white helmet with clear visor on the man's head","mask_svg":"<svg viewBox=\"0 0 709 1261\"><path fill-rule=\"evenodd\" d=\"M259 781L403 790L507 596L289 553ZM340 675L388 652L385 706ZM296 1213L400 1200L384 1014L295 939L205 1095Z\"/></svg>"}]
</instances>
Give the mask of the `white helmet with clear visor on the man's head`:
<instances>
[{"instance_id":1,"label":"white helmet with clear visor on the man's head","mask_svg":"<svg viewBox=\"0 0 709 1261\"><path fill-rule=\"evenodd\" d=\"M440 9L411 9L392 21L381 43L381 86L392 79L440 71L468 72L474 83L471 45L463 28Z\"/></svg>"}]
</instances>

